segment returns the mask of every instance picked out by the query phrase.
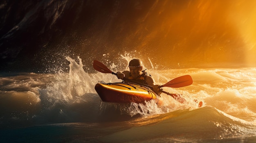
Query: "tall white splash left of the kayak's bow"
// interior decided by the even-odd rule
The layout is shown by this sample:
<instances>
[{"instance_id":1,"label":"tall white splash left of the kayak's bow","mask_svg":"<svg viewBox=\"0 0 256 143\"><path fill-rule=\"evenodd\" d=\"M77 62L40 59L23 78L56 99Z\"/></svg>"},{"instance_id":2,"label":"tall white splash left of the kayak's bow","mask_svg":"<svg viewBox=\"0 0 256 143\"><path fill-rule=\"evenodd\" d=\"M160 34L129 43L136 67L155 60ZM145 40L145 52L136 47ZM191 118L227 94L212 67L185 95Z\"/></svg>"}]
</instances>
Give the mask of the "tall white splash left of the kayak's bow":
<instances>
[{"instance_id":1,"label":"tall white splash left of the kayak's bow","mask_svg":"<svg viewBox=\"0 0 256 143\"><path fill-rule=\"evenodd\" d=\"M77 57L79 62L66 57L70 62L69 74L58 73L55 75L54 83L47 86L45 94L58 101L72 101L75 97L85 95L85 93L95 93L94 85L96 81L83 70L82 59ZM41 92L43 92L41 90ZM76 98L75 98L76 99Z\"/></svg>"}]
</instances>

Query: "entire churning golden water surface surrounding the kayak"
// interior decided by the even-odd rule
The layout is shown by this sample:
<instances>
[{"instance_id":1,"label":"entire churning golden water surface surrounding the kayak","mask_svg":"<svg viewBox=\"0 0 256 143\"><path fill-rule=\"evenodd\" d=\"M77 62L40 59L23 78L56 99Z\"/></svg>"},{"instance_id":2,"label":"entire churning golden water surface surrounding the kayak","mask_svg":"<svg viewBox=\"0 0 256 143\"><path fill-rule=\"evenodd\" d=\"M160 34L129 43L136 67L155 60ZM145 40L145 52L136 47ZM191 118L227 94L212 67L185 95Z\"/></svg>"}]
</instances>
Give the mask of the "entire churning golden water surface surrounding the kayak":
<instances>
[{"instance_id":1,"label":"entire churning golden water surface surrounding the kayak","mask_svg":"<svg viewBox=\"0 0 256 143\"><path fill-rule=\"evenodd\" d=\"M55 73L0 73L2 143L256 141L256 68L161 70L148 59L151 66L146 71L159 85L182 75L193 79L191 86L163 88L182 94L186 103L162 93L164 104L157 106L154 101L102 102L95 84L121 80L112 74L85 72L79 57L66 60L70 62L69 72L58 67ZM109 68L114 72L126 70L116 64ZM203 106L198 108L194 99L203 101Z\"/></svg>"}]
</instances>

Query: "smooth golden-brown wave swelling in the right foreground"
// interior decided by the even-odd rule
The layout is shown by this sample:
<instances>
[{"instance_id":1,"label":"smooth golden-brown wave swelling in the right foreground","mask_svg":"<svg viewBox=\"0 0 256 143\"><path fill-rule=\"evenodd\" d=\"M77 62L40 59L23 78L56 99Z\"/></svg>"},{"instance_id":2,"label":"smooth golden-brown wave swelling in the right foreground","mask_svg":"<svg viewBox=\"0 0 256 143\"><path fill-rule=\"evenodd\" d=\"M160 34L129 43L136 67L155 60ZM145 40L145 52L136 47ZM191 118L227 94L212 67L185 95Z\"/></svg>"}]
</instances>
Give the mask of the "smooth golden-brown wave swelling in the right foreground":
<instances>
[{"instance_id":1,"label":"smooth golden-brown wave swelling in the right foreground","mask_svg":"<svg viewBox=\"0 0 256 143\"><path fill-rule=\"evenodd\" d=\"M256 126L207 106L196 110L176 110L128 121L132 128L104 136L103 141L221 141L256 136Z\"/></svg>"}]
</instances>

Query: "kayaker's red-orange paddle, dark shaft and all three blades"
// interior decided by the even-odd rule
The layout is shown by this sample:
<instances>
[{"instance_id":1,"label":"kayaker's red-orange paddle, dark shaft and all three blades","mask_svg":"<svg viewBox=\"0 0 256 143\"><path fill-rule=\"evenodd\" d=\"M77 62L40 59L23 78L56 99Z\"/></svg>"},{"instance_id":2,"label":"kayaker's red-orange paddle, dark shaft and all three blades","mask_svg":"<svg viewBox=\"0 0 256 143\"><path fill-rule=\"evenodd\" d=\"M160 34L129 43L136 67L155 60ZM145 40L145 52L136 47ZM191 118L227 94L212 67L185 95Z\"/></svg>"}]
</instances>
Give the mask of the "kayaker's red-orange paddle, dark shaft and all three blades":
<instances>
[{"instance_id":1,"label":"kayaker's red-orange paddle, dark shaft and all three blades","mask_svg":"<svg viewBox=\"0 0 256 143\"><path fill-rule=\"evenodd\" d=\"M117 73L114 73L112 72L108 67L106 67L104 64L102 64L101 62L97 61L97 60L94 60L93 61L93 68L101 73L111 73L113 75L117 75ZM128 81L131 81L133 83L136 83L136 84L139 84L139 85L142 85L142 86L146 86L150 89L153 90L153 87L152 86L149 86L147 84L143 84L141 82L138 82L138 81L135 81L135 80L132 80L132 79L128 79L126 77L124 77L125 80L128 80ZM179 88L179 87L184 87L184 86L189 86L193 83L193 80L191 78L190 75L184 75L184 76L181 76L181 77L177 77L175 79L172 79L171 81L167 82L166 84L160 86L159 88L161 87L172 87L172 88ZM180 103L184 103L186 100L181 97L180 95L177 95L177 94L171 94L171 93L168 93L168 92L165 92L163 91L162 89L160 89L161 92L167 94L167 95L170 95L171 97L173 97L174 99L176 99L177 101L179 101Z\"/></svg>"}]
</instances>

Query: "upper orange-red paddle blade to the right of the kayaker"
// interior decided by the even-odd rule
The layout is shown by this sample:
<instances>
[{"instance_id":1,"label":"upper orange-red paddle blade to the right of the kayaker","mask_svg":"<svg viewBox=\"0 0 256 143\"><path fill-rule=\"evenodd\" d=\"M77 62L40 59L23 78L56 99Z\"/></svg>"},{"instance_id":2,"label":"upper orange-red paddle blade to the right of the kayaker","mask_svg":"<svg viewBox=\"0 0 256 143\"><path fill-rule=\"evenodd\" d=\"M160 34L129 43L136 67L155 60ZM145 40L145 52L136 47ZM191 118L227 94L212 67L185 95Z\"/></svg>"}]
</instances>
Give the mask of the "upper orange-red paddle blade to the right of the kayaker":
<instances>
[{"instance_id":1,"label":"upper orange-red paddle blade to the right of the kayaker","mask_svg":"<svg viewBox=\"0 0 256 143\"><path fill-rule=\"evenodd\" d=\"M190 75L183 75L181 77L177 77L166 84L160 86L161 87L171 87L171 88L180 88L184 86L189 86L193 83L192 77Z\"/></svg>"}]
</instances>

